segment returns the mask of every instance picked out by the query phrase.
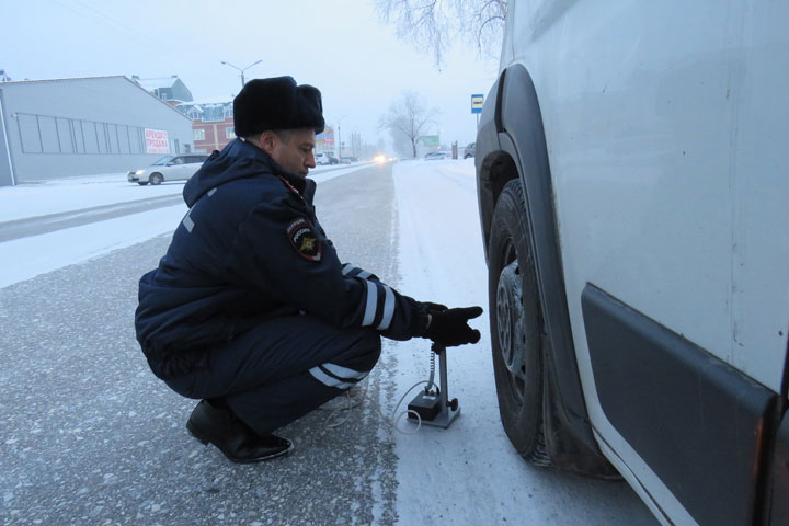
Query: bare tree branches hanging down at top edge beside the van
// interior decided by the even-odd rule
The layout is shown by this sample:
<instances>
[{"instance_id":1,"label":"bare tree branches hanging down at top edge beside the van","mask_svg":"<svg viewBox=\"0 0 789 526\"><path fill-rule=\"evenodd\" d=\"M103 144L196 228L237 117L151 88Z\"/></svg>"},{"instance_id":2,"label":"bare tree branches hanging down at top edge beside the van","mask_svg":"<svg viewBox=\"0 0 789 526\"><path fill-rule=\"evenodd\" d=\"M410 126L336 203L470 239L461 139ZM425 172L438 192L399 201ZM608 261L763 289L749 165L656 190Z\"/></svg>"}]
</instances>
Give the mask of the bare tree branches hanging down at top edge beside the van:
<instances>
[{"instance_id":1,"label":"bare tree branches hanging down at top edge beside the van","mask_svg":"<svg viewBox=\"0 0 789 526\"><path fill-rule=\"evenodd\" d=\"M378 18L397 26L433 55L436 66L456 37L471 41L480 55L498 56L508 0L375 0Z\"/></svg>"}]
</instances>

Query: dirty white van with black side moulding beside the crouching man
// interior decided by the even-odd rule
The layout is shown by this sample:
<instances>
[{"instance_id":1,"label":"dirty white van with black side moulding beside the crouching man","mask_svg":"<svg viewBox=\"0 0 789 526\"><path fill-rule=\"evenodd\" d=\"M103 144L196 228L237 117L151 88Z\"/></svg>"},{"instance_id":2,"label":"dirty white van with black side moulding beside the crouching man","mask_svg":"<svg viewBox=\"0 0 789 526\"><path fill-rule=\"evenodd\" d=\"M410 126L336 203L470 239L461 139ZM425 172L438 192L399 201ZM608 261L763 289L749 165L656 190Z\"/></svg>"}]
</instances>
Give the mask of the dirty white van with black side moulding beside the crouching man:
<instances>
[{"instance_id":1,"label":"dirty white van with black side moulding beside the crouching man","mask_svg":"<svg viewBox=\"0 0 789 526\"><path fill-rule=\"evenodd\" d=\"M476 167L511 442L662 524L789 524L789 2L508 10Z\"/></svg>"}]
</instances>

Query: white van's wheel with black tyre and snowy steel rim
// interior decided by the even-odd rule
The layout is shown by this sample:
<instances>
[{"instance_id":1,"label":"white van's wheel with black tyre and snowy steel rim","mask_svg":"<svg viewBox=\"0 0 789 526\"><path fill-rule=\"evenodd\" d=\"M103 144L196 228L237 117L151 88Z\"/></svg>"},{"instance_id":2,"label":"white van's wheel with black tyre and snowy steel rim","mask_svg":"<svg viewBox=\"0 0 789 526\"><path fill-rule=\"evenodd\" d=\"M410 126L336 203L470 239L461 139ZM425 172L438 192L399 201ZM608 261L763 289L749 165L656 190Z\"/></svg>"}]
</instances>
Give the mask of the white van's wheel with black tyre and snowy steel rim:
<instances>
[{"instance_id":1,"label":"white van's wheel with black tyre and snowy steel rim","mask_svg":"<svg viewBox=\"0 0 789 526\"><path fill-rule=\"evenodd\" d=\"M502 424L518 454L531 464L549 466L542 421L542 353L548 336L517 179L499 197L488 247L493 373Z\"/></svg>"}]
</instances>

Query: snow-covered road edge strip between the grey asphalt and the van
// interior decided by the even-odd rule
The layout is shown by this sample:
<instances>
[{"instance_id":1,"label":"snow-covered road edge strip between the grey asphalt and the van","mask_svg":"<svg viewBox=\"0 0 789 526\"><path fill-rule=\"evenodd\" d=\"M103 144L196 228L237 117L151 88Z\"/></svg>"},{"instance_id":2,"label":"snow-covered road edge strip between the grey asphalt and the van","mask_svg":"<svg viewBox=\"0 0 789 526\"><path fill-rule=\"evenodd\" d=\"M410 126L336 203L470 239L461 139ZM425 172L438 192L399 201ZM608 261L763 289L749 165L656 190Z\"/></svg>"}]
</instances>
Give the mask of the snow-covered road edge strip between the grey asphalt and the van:
<instances>
[{"instance_id":1,"label":"snow-covered road edge strip between the grey asphalt and the van","mask_svg":"<svg viewBox=\"0 0 789 526\"><path fill-rule=\"evenodd\" d=\"M392 175L400 290L420 300L485 310L470 322L482 340L447 350L448 395L458 399L460 416L448 430L397 434L399 524L655 524L626 484L534 468L504 433L490 352L473 159L407 161L396 164ZM414 339L398 344L397 352L399 399L427 378L430 344ZM412 432L415 426L402 422L400 427Z\"/></svg>"}]
</instances>

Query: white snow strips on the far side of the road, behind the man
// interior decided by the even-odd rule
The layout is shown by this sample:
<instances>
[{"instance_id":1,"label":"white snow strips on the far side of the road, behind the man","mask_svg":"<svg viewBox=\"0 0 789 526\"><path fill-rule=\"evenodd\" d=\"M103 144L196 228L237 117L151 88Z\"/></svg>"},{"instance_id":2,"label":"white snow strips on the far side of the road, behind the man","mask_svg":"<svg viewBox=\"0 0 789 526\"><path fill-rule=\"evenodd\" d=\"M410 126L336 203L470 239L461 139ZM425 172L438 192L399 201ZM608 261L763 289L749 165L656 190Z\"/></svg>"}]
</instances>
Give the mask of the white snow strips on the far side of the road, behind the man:
<instances>
[{"instance_id":1,"label":"white snow strips on the far side of the road, behind the man","mask_svg":"<svg viewBox=\"0 0 789 526\"><path fill-rule=\"evenodd\" d=\"M347 168L320 167L310 172L317 182L329 181L366 164ZM183 182L140 186L113 173L52 180L0 187L0 227L4 221L48 214L126 203L163 195L179 195ZM0 261L10 262L0 274L0 288L39 274L80 263L113 250L130 247L174 230L186 205L132 214L55 232L0 242Z\"/></svg>"}]
</instances>

